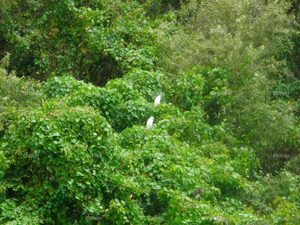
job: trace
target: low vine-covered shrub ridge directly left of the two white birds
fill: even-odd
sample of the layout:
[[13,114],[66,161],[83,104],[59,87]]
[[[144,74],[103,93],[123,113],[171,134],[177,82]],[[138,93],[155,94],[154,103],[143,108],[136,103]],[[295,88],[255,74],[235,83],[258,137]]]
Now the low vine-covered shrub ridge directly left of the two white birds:
[[[139,70],[141,73],[144,73],[142,78],[147,80],[146,83],[142,83],[142,79],[139,80],[139,76],[133,72],[125,75],[124,79],[108,82],[105,88],[76,81],[71,76],[53,77],[44,83],[43,91],[49,98],[64,97],[63,101],[70,106],[88,105],[98,108],[114,128],[122,130],[158,115],[159,109],[155,109],[153,103],[148,103],[144,96],[150,99],[156,93],[163,93],[165,87],[160,83],[163,75]],[[134,82],[130,82],[129,78]]]

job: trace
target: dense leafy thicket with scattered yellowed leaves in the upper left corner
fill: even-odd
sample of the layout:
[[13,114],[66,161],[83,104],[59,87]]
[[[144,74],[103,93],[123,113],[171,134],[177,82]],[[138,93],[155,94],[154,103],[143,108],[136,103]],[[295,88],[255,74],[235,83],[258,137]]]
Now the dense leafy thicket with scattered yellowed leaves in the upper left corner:
[[[133,68],[153,69],[157,61],[156,23],[136,1],[7,5],[0,26],[5,44],[0,49],[13,47],[10,68],[18,75],[44,80],[72,74],[103,86]],[[20,16],[19,9],[26,13]]]

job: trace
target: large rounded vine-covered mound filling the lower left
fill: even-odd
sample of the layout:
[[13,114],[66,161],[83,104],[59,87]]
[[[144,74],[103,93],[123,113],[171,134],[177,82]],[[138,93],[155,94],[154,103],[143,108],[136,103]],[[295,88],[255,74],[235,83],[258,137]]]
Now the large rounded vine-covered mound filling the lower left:
[[[17,119],[16,123],[1,138],[1,174],[6,180],[1,191],[13,188],[14,197],[34,197],[33,206],[44,207],[39,215],[43,222],[70,221],[67,212],[73,207],[98,215],[101,209],[105,212],[112,191],[119,192],[128,183],[136,187],[125,171],[114,173],[113,168],[132,165],[122,156],[111,126],[97,111],[50,101],[40,110],[18,117],[9,116],[10,120]],[[122,184],[118,190],[117,183]],[[59,221],[52,219],[53,213]]]

